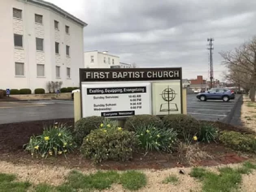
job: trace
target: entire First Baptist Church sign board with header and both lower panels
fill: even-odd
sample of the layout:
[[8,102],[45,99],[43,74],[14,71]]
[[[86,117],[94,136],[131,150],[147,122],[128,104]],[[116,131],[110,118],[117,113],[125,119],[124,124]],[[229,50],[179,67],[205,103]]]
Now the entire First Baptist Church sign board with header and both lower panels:
[[182,113],[181,68],[80,68],[81,117]]

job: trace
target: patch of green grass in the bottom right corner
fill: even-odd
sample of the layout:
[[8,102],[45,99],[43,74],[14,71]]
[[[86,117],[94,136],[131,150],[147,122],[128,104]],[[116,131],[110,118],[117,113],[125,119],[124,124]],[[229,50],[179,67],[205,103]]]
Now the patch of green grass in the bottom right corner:
[[189,175],[203,182],[202,192],[234,192],[242,182],[242,174],[249,174],[252,169],[256,169],[256,165],[245,162],[238,169],[220,168],[220,174],[194,168]]

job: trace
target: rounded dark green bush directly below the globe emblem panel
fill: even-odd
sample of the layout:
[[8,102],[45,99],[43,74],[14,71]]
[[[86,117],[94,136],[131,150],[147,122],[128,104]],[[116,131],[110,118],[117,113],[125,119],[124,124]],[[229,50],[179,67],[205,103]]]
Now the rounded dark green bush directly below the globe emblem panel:
[[194,136],[200,135],[201,124],[190,115],[165,115],[162,120],[166,128],[174,129],[178,133],[178,138],[186,143],[191,142]]

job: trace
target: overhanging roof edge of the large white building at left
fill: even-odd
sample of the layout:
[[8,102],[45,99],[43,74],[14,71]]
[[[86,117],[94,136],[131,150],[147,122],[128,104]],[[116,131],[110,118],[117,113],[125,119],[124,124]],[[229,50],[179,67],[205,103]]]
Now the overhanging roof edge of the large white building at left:
[[64,11],[63,9],[61,9],[60,7],[56,6],[53,3],[46,2],[46,1],[43,1],[43,0],[26,0],[26,1],[32,2],[32,3],[35,3],[35,4],[39,4],[39,5],[47,7],[47,8],[50,8],[53,11],[56,11],[56,12],[60,13],[62,16],[67,17],[67,18],[71,19],[72,21],[75,21],[76,23],[82,25],[83,27],[86,27],[88,25],[84,21],[78,19],[74,15],[71,15],[67,11]]

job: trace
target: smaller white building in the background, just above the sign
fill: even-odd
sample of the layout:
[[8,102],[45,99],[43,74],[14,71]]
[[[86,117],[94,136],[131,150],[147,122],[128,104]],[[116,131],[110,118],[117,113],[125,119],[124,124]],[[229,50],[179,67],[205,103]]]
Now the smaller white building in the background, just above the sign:
[[111,55],[108,51],[85,52],[85,68],[131,68],[131,66],[121,63],[119,56]]

